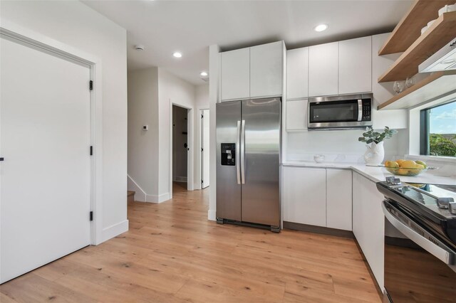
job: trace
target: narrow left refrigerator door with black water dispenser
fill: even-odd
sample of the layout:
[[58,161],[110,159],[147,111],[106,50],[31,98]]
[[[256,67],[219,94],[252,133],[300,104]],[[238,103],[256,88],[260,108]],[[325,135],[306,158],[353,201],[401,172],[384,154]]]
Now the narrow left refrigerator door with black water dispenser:
[[[239,167],[241,101],[217,103],[217,218],[242,220]],[[223,147],[223,148],[222,148]],[[234,147],[234,151],[232,148]],[[223,158],[234,161],[223,161]],[[234,165],[232,165],[234,164]],[[239,179],[239,184],[238,184]]]

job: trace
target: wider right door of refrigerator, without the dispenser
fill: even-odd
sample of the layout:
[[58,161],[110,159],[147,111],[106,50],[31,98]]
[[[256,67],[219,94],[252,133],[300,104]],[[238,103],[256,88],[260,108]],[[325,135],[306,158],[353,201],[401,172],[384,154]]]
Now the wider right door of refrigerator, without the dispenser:
[[280,98],[242,101],[242,120],[242,221],[279,227]]

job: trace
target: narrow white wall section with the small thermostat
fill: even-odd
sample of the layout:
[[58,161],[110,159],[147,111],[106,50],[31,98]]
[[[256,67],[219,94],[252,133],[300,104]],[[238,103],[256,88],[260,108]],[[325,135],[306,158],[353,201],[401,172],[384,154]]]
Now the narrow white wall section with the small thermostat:
[[[149,129],[144,131],[143,125]],[[128,189],[137,201],[158,192],[158,69],[128,72]],[[130,184],[131,181],[135,184]]]

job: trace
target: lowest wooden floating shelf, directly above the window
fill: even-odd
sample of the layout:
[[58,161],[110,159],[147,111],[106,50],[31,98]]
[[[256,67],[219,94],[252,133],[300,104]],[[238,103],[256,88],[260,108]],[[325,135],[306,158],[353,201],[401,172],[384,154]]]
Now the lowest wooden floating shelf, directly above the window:
[[377,109],[406,109],[450,92],[456,93],[456,70],[433,73],[385,103],[378,105]]

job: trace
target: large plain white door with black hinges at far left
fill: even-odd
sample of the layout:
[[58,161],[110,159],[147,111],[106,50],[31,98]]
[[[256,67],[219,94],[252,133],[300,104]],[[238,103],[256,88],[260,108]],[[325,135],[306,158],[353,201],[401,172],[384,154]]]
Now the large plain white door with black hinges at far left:
[[0,39],[1,273],[90,244],[90,68]]

